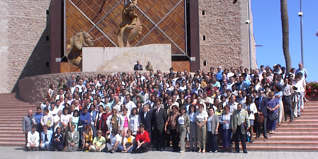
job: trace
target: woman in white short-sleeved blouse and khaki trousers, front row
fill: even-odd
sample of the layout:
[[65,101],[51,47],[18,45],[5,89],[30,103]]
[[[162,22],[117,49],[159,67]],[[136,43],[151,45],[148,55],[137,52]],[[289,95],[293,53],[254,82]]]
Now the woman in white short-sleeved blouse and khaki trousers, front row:
[[209,117],[208,112],[204,111],[203,107],[203,104],[199,104],[199,111],[196,113],[197,139],[199,141],[198,153],[205,153],[206,122]]

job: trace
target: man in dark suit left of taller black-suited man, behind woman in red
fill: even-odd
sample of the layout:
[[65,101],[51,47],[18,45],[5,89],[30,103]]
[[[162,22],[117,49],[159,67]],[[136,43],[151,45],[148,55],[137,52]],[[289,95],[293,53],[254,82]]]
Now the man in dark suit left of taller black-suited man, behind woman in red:
[[145,130],[149,133],[149,139],[151,140],[151,121],[152,121],[152,112],[149,110],[149,104],[143,105],[141,108],[143,111],[139,113],[139,121],[140,125],[143,124],[145,126]]

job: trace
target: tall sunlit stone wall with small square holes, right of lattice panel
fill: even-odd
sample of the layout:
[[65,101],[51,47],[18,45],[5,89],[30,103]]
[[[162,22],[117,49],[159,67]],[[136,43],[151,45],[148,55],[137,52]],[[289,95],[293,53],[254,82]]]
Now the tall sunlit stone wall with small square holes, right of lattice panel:
[[[242,2],[246,1],[199,1],[200,69],[249,67],[247,3]],[[255,46],[252,53],[256,65]]]

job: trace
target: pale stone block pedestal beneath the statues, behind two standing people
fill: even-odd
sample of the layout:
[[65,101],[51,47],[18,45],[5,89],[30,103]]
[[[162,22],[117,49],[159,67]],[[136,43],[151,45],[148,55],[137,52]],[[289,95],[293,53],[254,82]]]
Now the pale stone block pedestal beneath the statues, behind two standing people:
[[171,44],[149,44],[139,47],[83,47],[83,71],[133,71],[137,60],[146,70],[151,62],[156,70],[169,71]]

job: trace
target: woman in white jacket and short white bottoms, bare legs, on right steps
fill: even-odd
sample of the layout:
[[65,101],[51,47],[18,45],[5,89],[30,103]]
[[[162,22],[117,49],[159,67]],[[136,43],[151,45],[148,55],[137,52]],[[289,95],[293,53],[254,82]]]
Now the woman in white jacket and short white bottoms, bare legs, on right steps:
[[248,112],[249,114],[249,118],[250,118],[250,124],[251,124],[251,128],[249,129],[250,133],[251,133],[251,140],[250,142],[252,143],[252,136],[253,136],[253,125],[254,125],[254,120],[255,120],[255,116],[254,114],[257,113],[257,108],[255,103],[252,101],[252,96],[251,95],[247,95],[246,96],[246,102],[243,104],[245,110]]

